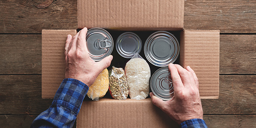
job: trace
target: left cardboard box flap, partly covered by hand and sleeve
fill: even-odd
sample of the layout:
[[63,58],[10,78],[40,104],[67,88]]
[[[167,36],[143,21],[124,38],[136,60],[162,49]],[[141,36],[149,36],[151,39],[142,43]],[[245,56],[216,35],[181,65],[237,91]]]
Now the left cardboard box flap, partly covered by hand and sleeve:
[[67,35],[76,30],[42,30],[42,98],[53,98],[65,77]]

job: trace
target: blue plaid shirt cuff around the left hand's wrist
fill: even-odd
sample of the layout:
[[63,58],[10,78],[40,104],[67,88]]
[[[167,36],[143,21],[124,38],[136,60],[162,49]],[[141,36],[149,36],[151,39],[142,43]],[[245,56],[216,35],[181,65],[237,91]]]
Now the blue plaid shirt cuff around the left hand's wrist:
[[79,113],[89,87],[76,79],[64,79],[58,88],[52,105],[61,105]]

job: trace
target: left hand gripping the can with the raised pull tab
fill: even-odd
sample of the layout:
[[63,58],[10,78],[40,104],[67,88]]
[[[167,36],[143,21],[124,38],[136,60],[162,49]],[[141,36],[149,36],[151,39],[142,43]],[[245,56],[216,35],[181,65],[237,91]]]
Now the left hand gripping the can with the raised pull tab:
[[91,86],[97,76],[110,66],[113,59],[112,55],[102,59],[102,61],[93,61],[86,45],[87,28],[79,31],[73,38],[67,35],[65,44],[65,78],[77,79],[87,86]]

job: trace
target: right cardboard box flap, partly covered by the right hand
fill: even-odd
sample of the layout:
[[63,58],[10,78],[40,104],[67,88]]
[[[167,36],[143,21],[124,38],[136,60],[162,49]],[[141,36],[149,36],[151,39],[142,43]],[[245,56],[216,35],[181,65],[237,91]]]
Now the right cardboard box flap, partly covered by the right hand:
[[219,44],[219,30],[183,30],[180,35],[180,65],[195,71],[201,99],[218,99]]

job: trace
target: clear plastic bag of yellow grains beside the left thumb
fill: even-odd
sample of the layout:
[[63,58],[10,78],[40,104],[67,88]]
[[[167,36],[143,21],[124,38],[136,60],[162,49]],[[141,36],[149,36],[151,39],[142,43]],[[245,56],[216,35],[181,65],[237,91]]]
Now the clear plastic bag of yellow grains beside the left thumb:
[[108,69],[105,69],[99,74],[94,83],[89,87],[87,96],[94,101],[99,101],[99,98],[102,98],[107,93],[108,84]]

